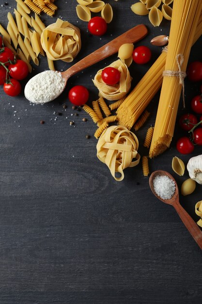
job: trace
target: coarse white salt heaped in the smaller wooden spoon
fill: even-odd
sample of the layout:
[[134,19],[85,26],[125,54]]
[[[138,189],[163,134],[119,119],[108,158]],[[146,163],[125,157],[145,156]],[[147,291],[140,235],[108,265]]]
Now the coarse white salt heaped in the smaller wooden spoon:
[[157,175],[154,178],[153,186],[155,193],[163,200],[170,200],[175,193],[175,183],[166,175]]

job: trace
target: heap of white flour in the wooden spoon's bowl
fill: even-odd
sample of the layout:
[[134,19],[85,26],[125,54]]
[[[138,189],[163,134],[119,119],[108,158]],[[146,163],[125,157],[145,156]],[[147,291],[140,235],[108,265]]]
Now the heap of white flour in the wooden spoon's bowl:
[[32,77],[25,86],[25,97],[34,103],[46,103],[57,98],[65,87],[62,74],[44,71]]

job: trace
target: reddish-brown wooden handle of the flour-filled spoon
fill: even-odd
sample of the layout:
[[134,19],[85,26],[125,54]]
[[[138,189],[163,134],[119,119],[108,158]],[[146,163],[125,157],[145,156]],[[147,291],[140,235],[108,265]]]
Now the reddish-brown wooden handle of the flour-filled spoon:
[[131,30],[125,32],[124,34],[113,39],[109,43],[105,44],[100,49],[94,51],[90,55],[81,59],[71,68],[68,68],[66,71],[62,72],[62,77],[66,80],[76,74],[77,72],[88,68],[93,64],[103,60],[104,58],[109,57],[110,55],[115,54],[119,51],[119,48],[124,43],[134,43],[144,38],[147,35],[148,31],[144,24],[140,24],[132,28]]

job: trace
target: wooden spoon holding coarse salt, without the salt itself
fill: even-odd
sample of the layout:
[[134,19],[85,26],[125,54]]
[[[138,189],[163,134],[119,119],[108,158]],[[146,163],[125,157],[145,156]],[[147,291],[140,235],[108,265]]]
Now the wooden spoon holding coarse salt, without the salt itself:
[[[173,197],[170,200],[163,200],[161,197],[159,197],[155,193],[153,181],[154,181],[154,178],[157,175],[160,175],[160,176],[161,175],[166,175],[166,176],[170,177],[170,179],[173,180],[173,182],[175,183],[175,193],[174,193]],[[170,204],[170,205],[172,205],[175,208],[175,210],[177,211],[180,219],[183,221],[183,223],[185,224],[185,226],[188,229],[188,231],[190,232],[190,234],[193,236],[193,238],[195,239],[195,241],[197,242],[197,244],[199,245],[199,247],[202,249],[202,231],[199,228],[199,226],[197,225],[197,223],[190,217],[190,215],[180,205],[180,203],[179,203],[179,190],[178,190],[178,186],[177,186],[176,181],[172,177],[172,175],[170,173],[168,173],[167,171],[163,171],[163,170],[155,171],[150,176],[149,186],[150,186],[152,192],[154,193],[154,195],[160,201],[162,201],[163,203]]]

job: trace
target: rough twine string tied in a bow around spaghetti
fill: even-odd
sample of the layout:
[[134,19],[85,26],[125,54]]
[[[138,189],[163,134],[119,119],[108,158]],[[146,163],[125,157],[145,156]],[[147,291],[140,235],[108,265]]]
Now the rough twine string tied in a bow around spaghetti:
[[171,70],[163,71],[163,77],[164,76],[168,76],[168,77],[175,76],[175,77],[179,78],[179,84],[182,84],[183,107],[185,108],[185,84],[184,84],[184,79],[186,77],[186,72],[182,71],[183,61],[184,61],[184,56],[182,54],[178,54],[176,56],[178,71],[171,71]]

